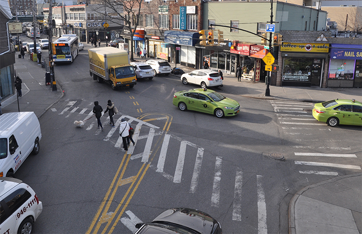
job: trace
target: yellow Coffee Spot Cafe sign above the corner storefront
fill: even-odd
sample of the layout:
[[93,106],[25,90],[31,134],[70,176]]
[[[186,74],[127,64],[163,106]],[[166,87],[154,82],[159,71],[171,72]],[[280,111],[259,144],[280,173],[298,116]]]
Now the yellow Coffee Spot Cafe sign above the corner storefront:
[[290,52],[311,52],[328,53],[329,44],[322,43],[284,43],[280,46],[280,51]]

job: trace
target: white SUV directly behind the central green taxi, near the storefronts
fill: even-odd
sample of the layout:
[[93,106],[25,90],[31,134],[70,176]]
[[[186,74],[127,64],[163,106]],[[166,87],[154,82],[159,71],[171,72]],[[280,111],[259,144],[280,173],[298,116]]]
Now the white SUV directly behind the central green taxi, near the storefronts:
[[223,84],[219,73],[208,69],[194,70],[190,73],[182,74],[181,81],[184,85],[188,83],[196,84],[200,85],[203,89],[211,86],[221,86]]

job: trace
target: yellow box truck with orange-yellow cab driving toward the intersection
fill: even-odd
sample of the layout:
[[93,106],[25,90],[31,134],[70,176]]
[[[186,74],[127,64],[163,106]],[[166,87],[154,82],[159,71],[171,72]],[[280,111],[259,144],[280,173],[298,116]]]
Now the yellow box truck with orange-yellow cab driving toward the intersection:
[[133,88],[136,74],[130,65],[128,52],[114,47],[88,49],[90,74],[98,83],[103,81],[116,90],[120,86]]

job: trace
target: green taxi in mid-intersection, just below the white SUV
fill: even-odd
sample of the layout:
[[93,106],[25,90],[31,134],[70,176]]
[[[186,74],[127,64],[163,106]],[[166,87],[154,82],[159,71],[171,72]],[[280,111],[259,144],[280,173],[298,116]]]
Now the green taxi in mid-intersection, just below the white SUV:
[[199,111],[216,117],[235,116],[240,104],[212,90],[194,89],[174,94],[172,103],[181,111]]

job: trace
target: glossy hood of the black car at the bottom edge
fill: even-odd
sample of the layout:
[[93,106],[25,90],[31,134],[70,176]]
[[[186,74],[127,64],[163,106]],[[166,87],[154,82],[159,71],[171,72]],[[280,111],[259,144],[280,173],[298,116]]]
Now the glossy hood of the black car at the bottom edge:
[[196,230],[201,234],[211,234],[218,222],[207,213],[187,208],[169,209],[158,215],[152,222],[169,222]]

